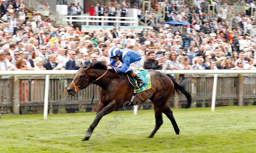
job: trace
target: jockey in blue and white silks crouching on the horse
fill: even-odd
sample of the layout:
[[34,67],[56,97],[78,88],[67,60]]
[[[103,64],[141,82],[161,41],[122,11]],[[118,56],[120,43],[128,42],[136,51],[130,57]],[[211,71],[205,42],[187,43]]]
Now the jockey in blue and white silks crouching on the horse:
[[[117,61],[122,62],[118,65],[119,69],[117,72],[126,73],[136,79],[138,82],[137,88],[140,88],[145,84],[145,82],[133,72],[134,70],[141,68],[144,64],[144,59],[140,53],[128,48],[119,49],[117,46],[113,46],[108,50],[108,57],[111,58],[109,65],[115,66]],[[112,67],[108,66],[108,69],[112,69]]]

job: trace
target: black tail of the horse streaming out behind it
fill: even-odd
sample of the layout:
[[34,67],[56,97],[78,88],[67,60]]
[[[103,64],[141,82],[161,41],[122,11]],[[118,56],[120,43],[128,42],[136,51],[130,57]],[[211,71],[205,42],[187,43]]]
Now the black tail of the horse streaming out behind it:
[[[170,77],[171,78],[171,77]],[[172,79],[172,78],[171,78]],[[175,94],[175,92],[178,94],[178,95],[181,95],[181,93],[179,91],[181,91],[187,98],[187,105],[186,105],[186,109],[187,108],[190,108],[191,106],[191,101],[192,101],[192,97],[190,95],[190,92],[187,91],[187,85],[188,85],[188,82],[189,79],[185,79],[185,80],[182,80],[180,78],[179,82],[176,82],[175,80],[172,79],[172,82],[174,84],[174,91],[173,91],[173,95]]]

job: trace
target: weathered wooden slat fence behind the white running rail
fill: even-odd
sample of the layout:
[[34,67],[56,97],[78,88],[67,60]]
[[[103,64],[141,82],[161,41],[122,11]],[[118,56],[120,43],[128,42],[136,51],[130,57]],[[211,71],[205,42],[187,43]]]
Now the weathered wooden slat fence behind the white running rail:
[[[211,107],[214,74],[185,74],[176,78],[189,78],[188,90],[192,95],[192,107]],[[48,113],[95,112],[99,102],[97,86],[91,104],[95,85],[75,94],[68,95],[66,89],[73,75],[50,75]],[[176,80],[178,81],[178,80]],[[0,78],[1,113],[12,113],[12,107],[19,107],[24,114],[43,114],[45,75],[16,75]],[[215,106],[256,105],[256,74],[219,74]],[[14,99],[16,102],[14,102]],[[239,99],[242,103],[239,104]],[[19,106],[14,103],[19,103]],[[175,95],[168,102],[170,108],[184,108],[187,99]],[[139,105],[139,109],[150,109],[150,100]],[[123,110],[120,108],[119,110]]]

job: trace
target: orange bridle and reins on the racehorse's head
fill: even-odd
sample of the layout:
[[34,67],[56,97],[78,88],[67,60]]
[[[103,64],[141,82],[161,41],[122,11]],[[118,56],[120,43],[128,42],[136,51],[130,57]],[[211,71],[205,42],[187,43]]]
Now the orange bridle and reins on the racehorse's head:
[[[111,66],[111,67],[116,71],[116,75],[117,75],[119,78],[121,78],[120,75],[117,73],[117,71],[118,71],[118,69],[119,69],[118,66],[112,66],[112,65],[107,65],[107,66]],[[115,67],[117,67],[117,70],[115,69]],[[86,80],[87,75],[89,74],[89,72],[88,72],[87,70],[85,70],[84,68],[79,68],[79,71],[77,72],[76,76],[79,74],[79,72],[80,72],[81,70],[84,70],[85,72],[87,72],[87,74],[86,74],[86,76],[85,76],[85,78],[84,78],[84,80]],[[109,70],[109,69],[108,69],[108,70]],[[75,92],[80,91],[80,90],[82,90],[82,89],[85,89],[85,88],[87,88],[88,86],[92,85],[95,81],[97,81],[97,80],[99,80],[101,77],[103,77],[103,76],[108,72],[108,70],[107,70],[103,75],[101,75],[99,78],[97,78],[96,80],[92,81],[92,82],[91,82],[89,85],[87,85],[86,87],[82,87],[82,85],[84,84],[84,80],[83,80],[83,82],[81,83],[81,85],[79,85],[79,86],[76,87],[76,85],[74,84],[74,80],[75,80],[75,78],[76,78],[76,76],[75,76],[74,79],[73,79],[73,81],[71,82],[71,83],[74,85],[74,87],[75,87]],[[89,75],[91,75],[91,74],[89,74]],[[91,76],[93,76],[93,78],[94,78],[94,75],[91,75]]]

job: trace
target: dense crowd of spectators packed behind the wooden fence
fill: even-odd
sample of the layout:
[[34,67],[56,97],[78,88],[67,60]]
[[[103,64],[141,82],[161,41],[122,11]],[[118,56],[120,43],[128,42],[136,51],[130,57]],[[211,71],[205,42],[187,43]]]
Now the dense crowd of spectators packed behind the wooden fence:
[[[166,4],[172,5],[172,2]],[[140,5],[134,5],[137,6]],[[101,14],[101,8],[98,10]],[[209,15],[202,16],[201,20],[196,10],[190,12],[186,11],[191,15],[186,21],[194,23],[192,27],[197,29],[188,26],[182,30],[178,26],[174,31],[170,25],[158,24],[155,28],[143,27],[139,33],[133,28],[122,30],[122,26],[114,26],[110,31],[99,28],[89,33],[81,32],[73,24],[54,28],[49,18],[42,21],[37,12],[33,13],[31,22],[28,18],[14,22],[7,17],[7,21],[0,24],[0,70],[76,70],[80,62],[87,65],[96,60],[108,64],[108,49],[115,45],[139,52],[145,61],[144,69],[256,69],[256,35],[251,38],[239,26],[230,29],[226,22],[219,22],[219,18],[214,22]],[[182,20],[186,17],[181,16]],[[252,21],[249,15],[243,16],[240,22]],[[214,32],[207,37],[207,33],[197,35],[202,29],[209,30],[208,23],[215,24]],[[184,50],[187,45],[194,47]]]

